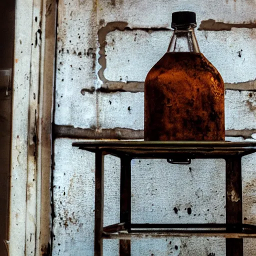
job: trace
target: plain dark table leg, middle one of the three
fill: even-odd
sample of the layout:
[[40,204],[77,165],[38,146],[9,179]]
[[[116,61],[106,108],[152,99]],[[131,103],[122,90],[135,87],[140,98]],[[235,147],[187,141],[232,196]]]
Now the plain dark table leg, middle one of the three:
[[[121,157],[121,180],[120,180],[120,222],[130,224],[130,200],[131,200],[131,158]],[[119,241],[119,256],[130,256],[130,240]]]

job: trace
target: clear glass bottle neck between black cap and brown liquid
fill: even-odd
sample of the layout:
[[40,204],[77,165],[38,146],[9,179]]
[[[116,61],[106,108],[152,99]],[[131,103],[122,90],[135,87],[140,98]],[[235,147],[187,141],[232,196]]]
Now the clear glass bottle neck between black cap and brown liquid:
[[200,52],[194,28],[175,28],[167,52]]

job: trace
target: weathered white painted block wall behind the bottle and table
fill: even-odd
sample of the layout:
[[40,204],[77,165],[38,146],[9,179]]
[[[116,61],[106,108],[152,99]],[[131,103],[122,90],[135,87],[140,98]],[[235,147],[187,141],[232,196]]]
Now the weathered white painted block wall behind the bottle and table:
[[[77,138],[143,137],[143,81],[166,51],[171,12],[197,14],[200,50],[225,82],[226,139],[255,141],[255,8],[254,0],[58,2],[54,256],[93,255],[94,156],[71,143]],[[110,224],[118,221],[119,160],[105,158],[104,224]],[[132,221],[225,222],[224,162],[194,160],[190,167],[133,161]],[[245,223],[256,221],[255,167],[255,155],[243,158]],[[254,240],[244,240],[245,255],[253,255],[254,245]],[[133,256],[225,255],[225,241],[132,240],[131,251]],[[118,255],[118,243],[105,241],[104,252]]]

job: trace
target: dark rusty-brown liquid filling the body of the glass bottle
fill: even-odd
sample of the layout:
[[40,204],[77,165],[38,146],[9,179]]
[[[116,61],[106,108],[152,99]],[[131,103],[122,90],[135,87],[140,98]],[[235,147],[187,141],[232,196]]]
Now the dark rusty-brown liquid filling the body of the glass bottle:
[[145,140],[224,140],[224,83],[202,53],[165,53],[144,91]]

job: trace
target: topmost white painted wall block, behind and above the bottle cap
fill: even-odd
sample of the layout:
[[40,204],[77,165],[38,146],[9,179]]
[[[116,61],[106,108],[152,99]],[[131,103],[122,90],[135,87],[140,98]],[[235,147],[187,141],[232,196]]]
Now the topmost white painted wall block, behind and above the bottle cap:
[[197,24],[209,18],[226,23],[255,20],[254,0],[98,0],[97,6],[98,20],[126,21],[131,27],[170,27],[171,12],[179,10],[195,11]]

